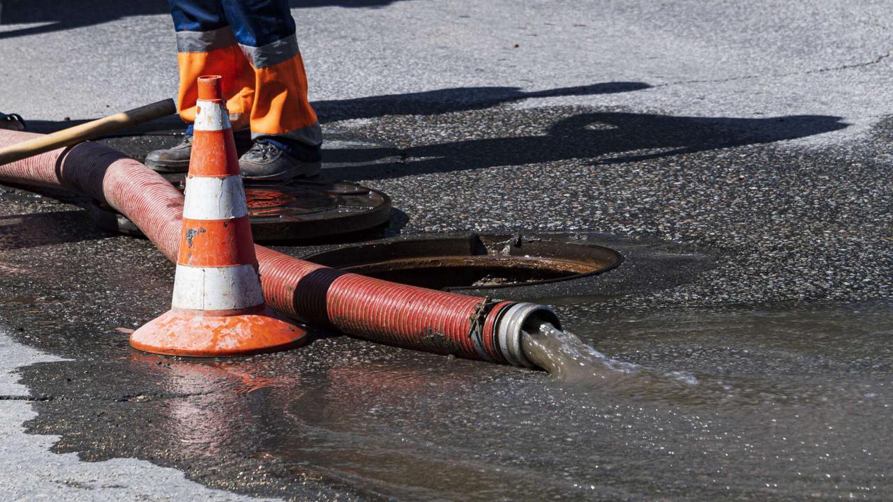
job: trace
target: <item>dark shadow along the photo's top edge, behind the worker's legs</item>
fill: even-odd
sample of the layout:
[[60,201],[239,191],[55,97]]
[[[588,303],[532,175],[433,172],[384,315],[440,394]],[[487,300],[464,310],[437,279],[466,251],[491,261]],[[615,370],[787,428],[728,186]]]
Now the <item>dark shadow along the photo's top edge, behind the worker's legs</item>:
[[[313,7],[379,8],[400,0],[289,0],[293,9]],[[121,2],[119,0],[79,0],[60,2],[59,0],[5,0],[0,12],[2,24],[50,23],[29,28],[11,29],[0,32],[0,39],[51,33],[65,29],[83,28],[105,22],[117,21],[125,17],[171,13],[166,0],[142,0]],[[300,20],[298,20],[300,21]],[[172,30],[172,25],[171,25]]]

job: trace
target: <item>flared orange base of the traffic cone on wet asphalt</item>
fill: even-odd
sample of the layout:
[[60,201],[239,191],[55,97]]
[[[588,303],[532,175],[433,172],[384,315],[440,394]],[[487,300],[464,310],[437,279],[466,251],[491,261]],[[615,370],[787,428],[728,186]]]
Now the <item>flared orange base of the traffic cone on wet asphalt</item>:
[[202,315],[169,310],[130,335],[130,346],[164,356],[250,356],[299,347],[307,331],[269,309],[254,314]]

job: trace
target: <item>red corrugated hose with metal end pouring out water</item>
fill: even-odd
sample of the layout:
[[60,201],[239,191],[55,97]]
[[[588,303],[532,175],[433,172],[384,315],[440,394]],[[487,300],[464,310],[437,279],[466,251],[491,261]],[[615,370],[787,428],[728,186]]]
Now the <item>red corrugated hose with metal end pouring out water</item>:
[[[35,134],[0,130],[0,147]],[[0,181],[70,189],[127,216],[169,260],[179,249],[183,196],[142,163],[81,143],[0,165]],[[520,349],[528,322],[559,326],[542,305],[491,302],[396,284],[312,264],[255,246],[268,305],[310,326],[437,354],[532,366]]]

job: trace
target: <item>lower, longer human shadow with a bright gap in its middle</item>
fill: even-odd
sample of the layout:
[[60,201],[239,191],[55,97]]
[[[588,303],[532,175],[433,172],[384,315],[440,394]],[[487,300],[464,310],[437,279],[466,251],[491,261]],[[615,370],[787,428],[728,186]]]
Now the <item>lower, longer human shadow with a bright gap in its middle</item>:
[[[767,118],[684,117],[652,113],[591,112],[573,113],[579,108],[538,108],[501,110],[508,115],[499,120],[492,110],[463,117],[472,123],[501,122],[489,138],[409,146],[352,150],[352,162],[359,166],[340,166],[325,171],[332,179],[379,180],[410,174],[454,172],[505,165],[551,163],[582,160],[609,164],[645,161],[671,155],[690,154],[718,148],[766,144],[804,138],[847,127],[840,117],[828,115],[790,115]],[[513,134],[530,124],[541,124],[545,134]],[[507,124],[507,125],[506,125]],[[432,124],[426,124],[431,127]],[[455,122],[439,125],[456,127]],[[505,129],[507,127],[507,129]],[[496,128],[491,128],[496,129]],[[460,131],[461,132],[461,131]],[[327,152],[328,153],[328,152]],[[338,151],[327,161],[338,160]],[[388,163],[374,159],[394,157]],[[413,160],[419,159],[419,160]],[[344,161],[342,161],[344,162]]]

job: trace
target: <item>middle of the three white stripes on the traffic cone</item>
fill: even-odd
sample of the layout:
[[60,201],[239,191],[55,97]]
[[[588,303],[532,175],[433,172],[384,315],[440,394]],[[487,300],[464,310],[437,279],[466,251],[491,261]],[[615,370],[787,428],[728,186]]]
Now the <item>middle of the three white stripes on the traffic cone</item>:
[[245,188],[239,176],[193,177],[186,180],[183,217],[190,220],[231,220],[248,213]]

